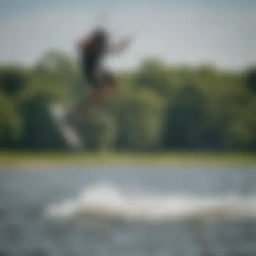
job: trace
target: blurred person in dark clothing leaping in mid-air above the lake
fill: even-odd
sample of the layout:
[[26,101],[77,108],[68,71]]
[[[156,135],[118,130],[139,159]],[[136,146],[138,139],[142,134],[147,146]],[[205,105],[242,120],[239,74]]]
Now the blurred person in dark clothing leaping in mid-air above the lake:
[[115,77],[102,67],[104,57],[108,54],[121,53],[130,42],[130,38],[123,38],[115,45],[110,44],[108,32],[102,28],[96,28],[79,42],[78,51],[82,75],[92,87],[92,93],[89,98],[79,102],[67,115],[62,131],[69,143],[76,146],[81,144],[72,129],[73,125],[90,106],[100,104],[117,87]]

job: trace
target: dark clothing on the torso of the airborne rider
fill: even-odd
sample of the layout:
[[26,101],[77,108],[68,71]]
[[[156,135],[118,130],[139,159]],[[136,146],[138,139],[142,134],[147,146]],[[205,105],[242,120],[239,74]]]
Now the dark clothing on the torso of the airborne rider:
[[92,87],[113,82],[112,75],[101,67],[108,42],[106,42],[105,34],[100,34],[100,36],[98,42],[96,41],[87,49],[82,50],[82,73]]

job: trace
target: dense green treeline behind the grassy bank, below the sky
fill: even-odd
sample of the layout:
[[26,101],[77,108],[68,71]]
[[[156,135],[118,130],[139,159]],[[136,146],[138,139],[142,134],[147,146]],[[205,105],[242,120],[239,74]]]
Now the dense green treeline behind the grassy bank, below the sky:
[[[256,150],[256,69],[175,67],[146,59],[77,129],[87,150]],[[0,148],[65,150],[49,115],[90,93],[77,64],[51,51],[32,67],[0,67]]]

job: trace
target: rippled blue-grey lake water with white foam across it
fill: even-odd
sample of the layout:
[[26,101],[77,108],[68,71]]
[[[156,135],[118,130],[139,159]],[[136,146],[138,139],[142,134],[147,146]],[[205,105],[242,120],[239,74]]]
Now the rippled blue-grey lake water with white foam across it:
[[255,167],[1,170],[0,255],[256,255]]

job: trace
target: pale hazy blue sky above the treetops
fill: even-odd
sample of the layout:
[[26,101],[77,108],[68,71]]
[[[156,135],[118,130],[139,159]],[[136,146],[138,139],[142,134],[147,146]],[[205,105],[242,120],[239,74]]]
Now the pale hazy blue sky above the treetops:
[[0,62],[32,63],[49,49],[75,55],[102,12],[114,37],[135,36],[113,67],[157,56],[240,69],[256,59],[256,0],[0,0]]

